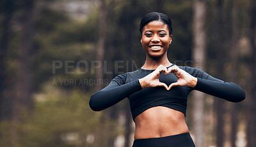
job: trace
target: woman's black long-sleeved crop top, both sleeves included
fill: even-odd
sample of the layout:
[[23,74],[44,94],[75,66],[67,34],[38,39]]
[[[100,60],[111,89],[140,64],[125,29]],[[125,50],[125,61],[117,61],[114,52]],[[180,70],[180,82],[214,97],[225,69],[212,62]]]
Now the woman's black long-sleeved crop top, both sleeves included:
[[[93,111],[101,111],[128,97],[134,120],[141,112],[156,106],[169,107],[183,112],[186,116],[188,95],[193,89],[230,102],[241,102],[245,98],[243,89],[233,82],[221,81],[197,68],[178,67],[197,77],[198,82],[195,88],[175,86],[168,91],[164,87],[158,86],[142,89],[138,79],[154,70],[139,68],[134,72],[117,75],[106,88],[93,93],[89,102],[90,107]],[[177,77],[172,73],[168,75],[161,73],[159,81],[169,86],[172,82],[177,81]]]

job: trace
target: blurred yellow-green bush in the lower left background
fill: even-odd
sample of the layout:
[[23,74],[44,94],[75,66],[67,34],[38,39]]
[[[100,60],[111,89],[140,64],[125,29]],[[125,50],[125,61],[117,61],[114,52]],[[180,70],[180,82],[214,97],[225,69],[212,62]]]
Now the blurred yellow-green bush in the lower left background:
[[8,121],[1,123],[0,145],[10,144],[10,130],[15,127],[20,134],[20,147],[90,146],[90,143],[104,146],[108,142],[106,135],[117,133],[109,130],[115,123],[104,120],[105,123],[99,124],[102,112],[90,109],[89,98],[90,93],[78,89],[68,92],[51,83],[44,84],[42,92],[35,95],[34,111],[24,111],[24,121],[19,126]]

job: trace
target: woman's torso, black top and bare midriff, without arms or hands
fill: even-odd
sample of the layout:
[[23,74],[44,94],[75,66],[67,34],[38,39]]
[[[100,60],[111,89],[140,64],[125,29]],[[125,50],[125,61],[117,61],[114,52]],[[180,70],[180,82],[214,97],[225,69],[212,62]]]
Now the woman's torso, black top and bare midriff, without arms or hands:
[[[185,66],[179,66],[186,70]],[[192,74],[196,71],[189,68]],[[118,75],[114,81],[119,85],[135,81],[154,70],[138,69],[134,72]],[[177,81],[173,74],[159,77],[159,81],[170,85]],[[134,139],[164,137],[188,132],[185,121],[187,98],[192,88],[175,86],[170,91],[163,87],[145,88],[129,95],[132,118],[136,125]]]

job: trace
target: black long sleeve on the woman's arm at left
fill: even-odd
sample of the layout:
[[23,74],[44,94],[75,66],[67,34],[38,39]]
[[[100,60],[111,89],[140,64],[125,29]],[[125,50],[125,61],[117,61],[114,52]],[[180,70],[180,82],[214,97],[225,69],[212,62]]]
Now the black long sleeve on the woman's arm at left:
[[140,89],[142,88],[138,79],[125,84],[125,74],[118,75],[106,88],[93,93],[89,105],[93,111],[102,111]]

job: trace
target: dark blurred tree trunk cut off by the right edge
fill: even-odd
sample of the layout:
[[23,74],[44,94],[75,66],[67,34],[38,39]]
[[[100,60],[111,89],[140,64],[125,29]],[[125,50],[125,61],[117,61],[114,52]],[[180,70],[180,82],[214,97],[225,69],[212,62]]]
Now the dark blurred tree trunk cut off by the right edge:
[[251,24],[250,28],[248,29],[248,34],[250,38],[250,44],[252,46],[252,53],[250,54],[250,70],[251,70],[251,75],[248,78],[248,84],[250,84],[250,89],[249,89],[249,97],[246,98],[247,100],[247,105],[248,105],[248,112],[246,113],[248,116],[247,120],[247,140],[248,140],[248,147],[256,146],[256,2],[255,1],[250,1],[252,8],[250,9],[250,18],[251,18]]

